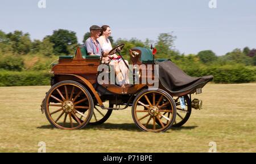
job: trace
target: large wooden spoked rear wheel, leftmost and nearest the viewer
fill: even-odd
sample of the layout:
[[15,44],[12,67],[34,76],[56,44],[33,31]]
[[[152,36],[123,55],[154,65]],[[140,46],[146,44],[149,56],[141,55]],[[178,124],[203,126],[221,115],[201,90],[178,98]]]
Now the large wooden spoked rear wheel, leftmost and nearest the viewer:
[[52,126],[77,130],[89,123],[93,100],[88,90],[76,81],[61,81],[46,94],[44,110]]

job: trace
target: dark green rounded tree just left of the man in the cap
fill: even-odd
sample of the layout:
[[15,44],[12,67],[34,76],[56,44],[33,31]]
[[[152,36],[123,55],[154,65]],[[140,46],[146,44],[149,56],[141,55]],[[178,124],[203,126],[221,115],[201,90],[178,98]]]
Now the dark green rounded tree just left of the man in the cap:
[[49,36],[49,41],[54,44],[55,54],[73,54],[77,45],[76,33],[65,29],[53,31],[53,34]]

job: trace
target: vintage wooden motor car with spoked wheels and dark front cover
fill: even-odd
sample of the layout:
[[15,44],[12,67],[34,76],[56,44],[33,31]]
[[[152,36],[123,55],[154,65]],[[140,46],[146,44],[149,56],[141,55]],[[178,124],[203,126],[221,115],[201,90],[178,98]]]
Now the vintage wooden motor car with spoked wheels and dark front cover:
[[[116,46],[109,54],[118,54],[123,60],[123,46]],[[213,76],[188,76],[170,59],[155,59],[156,51],[152,46],[151,49],[133,48],[130,52],[133,67],[129,67],[129,74],[133,80],[126,88],[115,83],[99,83],[101,57],[87,55],[84,45],[77,47],[74,56],[60,56],[49,68],[53,75],[51,88],[41,105],[49,123],[64,130],[78,130],[88,124],[104,123],[113,110],[131,107],[131,115],[139,129],[164,132],[183,126],[192,108],[201,109],[202,101],[192,100],[192,94],[201,93],[201,88]],[[111,72],[110,69],[105,74]],[[155,78],[153,84],[141,83],[148,77]]]

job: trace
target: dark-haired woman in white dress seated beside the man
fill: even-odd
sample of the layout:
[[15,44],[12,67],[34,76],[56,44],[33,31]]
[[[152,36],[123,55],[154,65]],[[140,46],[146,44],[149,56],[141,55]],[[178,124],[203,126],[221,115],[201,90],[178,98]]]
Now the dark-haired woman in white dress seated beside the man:
[[[100,42],[102,50],[104,50],[105,53],[109,53],[110,50],[112,50],[112,44],[109,41],[108,37],[111,34],[111,29],[108,25],[103,25],[101,27],[101,34],[98,38],[98,41]],[[115,68],[115,75],[117,76],[117,84],[121,86],[122,88],[125,88],[125,84],[129,84],[129,70],[126,67],[125,63],[123,62],[122,58],[119,58],[118,55],[113,54],[108,56],[111,61],[110,65],[113,65]],[[125,62],[129,64],[126,60]]]

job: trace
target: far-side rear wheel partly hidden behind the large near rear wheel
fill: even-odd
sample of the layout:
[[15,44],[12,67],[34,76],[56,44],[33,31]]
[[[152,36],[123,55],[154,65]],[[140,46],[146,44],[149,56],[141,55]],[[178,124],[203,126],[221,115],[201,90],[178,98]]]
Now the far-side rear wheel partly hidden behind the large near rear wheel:
[[[113,107],[113,104],[109,104],[109,107]],[[104,109],[101,109],[100,106],[95,105],[93,109],[93,116],[92,116],[92,119],[90,119],[89,124],[90,125],[102,124],[106,120],[108,120],[111,114],[112,114],[112,109],[104,110]]]

